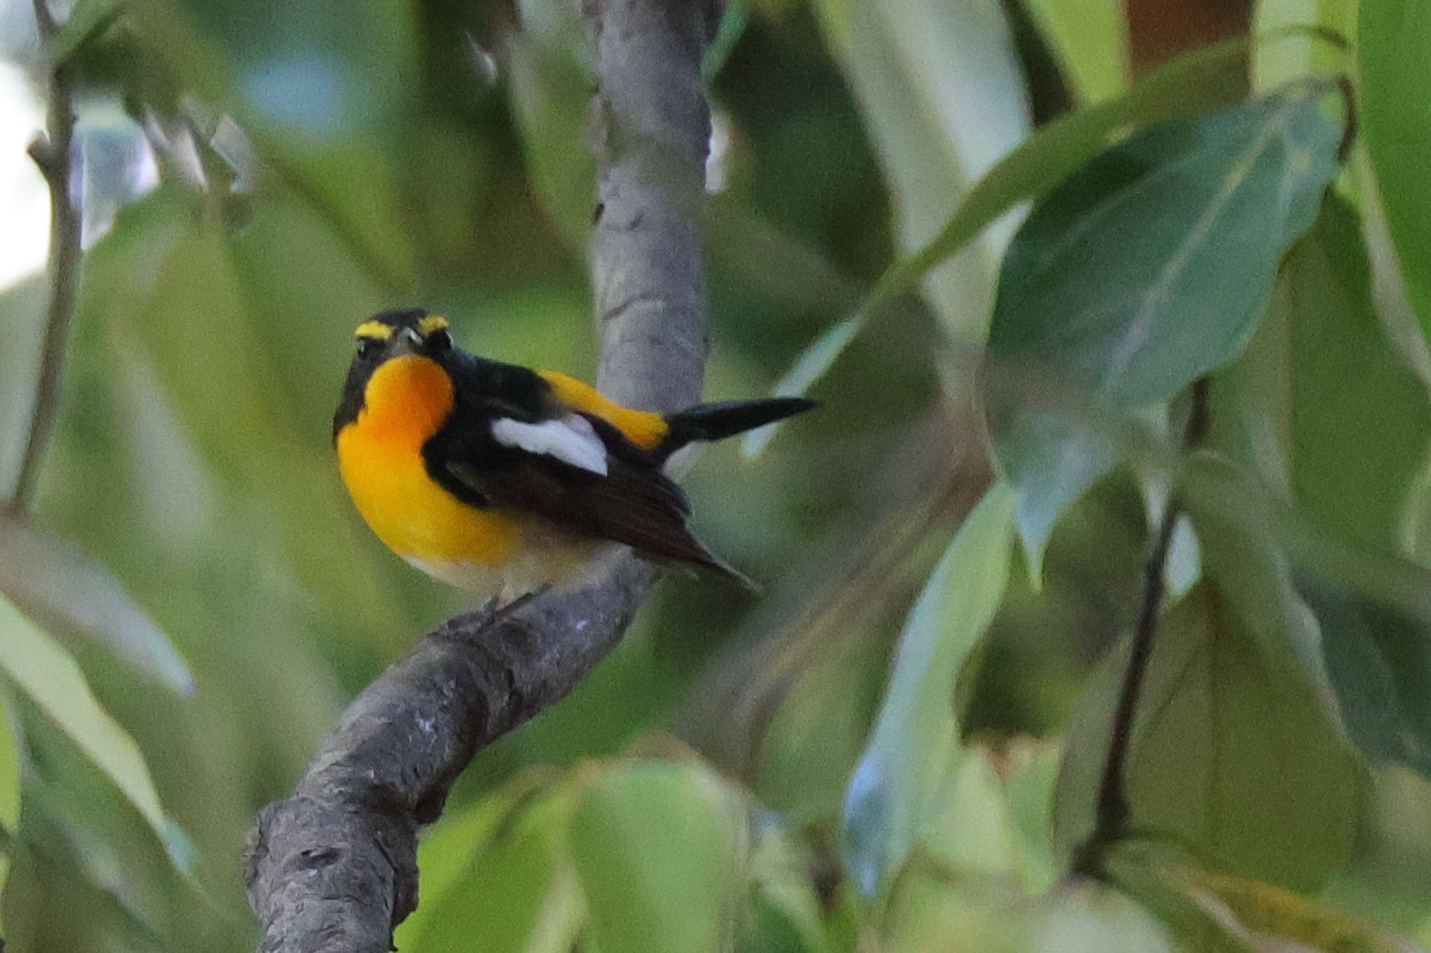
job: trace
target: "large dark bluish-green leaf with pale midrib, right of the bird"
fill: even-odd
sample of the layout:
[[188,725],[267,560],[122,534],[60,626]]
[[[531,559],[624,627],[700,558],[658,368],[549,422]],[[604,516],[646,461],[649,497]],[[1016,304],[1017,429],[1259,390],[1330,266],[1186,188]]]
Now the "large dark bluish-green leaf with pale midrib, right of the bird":
[[[1322,111],[1325,93],[1314,86],[1155,126],[1070,176],[1009,247],[989,336],[995,366],[1015,381],[1046,374],[1103,406],[1138,407],[1232,360],[1337,170],[1341,130]],[[1075,424],[1042,419],[1045,407],[1020,420],[1026,387],[1003,389],[1013,393],[990,400],[1003,420],[995,451],[1019,492],[1036,574],[1058,514],[1115,456]]]

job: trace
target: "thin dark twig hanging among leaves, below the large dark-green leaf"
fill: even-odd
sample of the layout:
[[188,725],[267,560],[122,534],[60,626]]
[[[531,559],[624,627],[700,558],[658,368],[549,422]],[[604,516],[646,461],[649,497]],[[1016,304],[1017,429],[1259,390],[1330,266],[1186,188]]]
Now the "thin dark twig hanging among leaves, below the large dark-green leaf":
[[[1182,447],[1191,450],[1202,441],[1208,431],[1208,379],[1199,377],[1192,384],[1192,406],[1183,429]],[[1113,727],[1108,743],[1108,757],[1103,762],[1103,776],[1098,784],[1098,806],[1095,809],[1093,833],[1079,847],[1073,859],[1073,872],[1083,876],[1099,876],[1103,854],[1109,844],[1119,840],[1128,830],[1130,809],[1128,806],[1128,752],[1133,740],[1133,719],[1138,714],[1138,697],[1142,694],[1152,659],[1153,637],[1158,633],[1158,613],[1162,607],[1163,580],[1168,567],[1168,550],[1172,546],[1173,527],[1182,507],[1176,494],[1163,507],[1153,537],[1148,562],[1143,564],[1143,594],[1138,609],[1138,627],[1133,630],[1133,644],[1123,670],[1123,686],[1118,694],[1118,709],[1113,713]]]

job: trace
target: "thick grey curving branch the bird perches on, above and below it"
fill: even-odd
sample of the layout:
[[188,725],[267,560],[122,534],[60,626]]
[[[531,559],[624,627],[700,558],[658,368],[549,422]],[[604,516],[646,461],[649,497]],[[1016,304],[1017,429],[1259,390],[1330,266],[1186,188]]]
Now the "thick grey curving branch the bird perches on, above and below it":
[[[705,353],[697,230],[714,0],[587,0],[600,160],[591,276],[598,386],[651,410],[697,400]],[[418,827],[472,756],[564,697],[621,639],[655,579],[624,557],[584,592],[449,620],[375,680],[249,836],[262,953],[385,953],[418,903]]]

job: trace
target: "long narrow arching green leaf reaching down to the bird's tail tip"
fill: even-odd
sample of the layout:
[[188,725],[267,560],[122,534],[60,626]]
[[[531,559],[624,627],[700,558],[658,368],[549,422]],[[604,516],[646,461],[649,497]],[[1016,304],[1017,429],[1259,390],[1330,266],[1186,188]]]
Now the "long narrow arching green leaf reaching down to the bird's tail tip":
[[[1226,77],[1236,74],[1246,51],[1248,41],[1239,39],[1185,53],[1145,76],[1123,96],[1085,106],[1035,130],[969,189],[939,234],[892,264],[859,310],[826,330],[796,360],[776,393],[806,393],[834,364],[866,320],[887,310],[933,267],[1016,204],[1053,189],[1129,124],[1195,116],[1239,101],[1245,84],[1228,83]],[[746,451],[758,453],[778,427],[771,424],[761,437],[748,437]]]

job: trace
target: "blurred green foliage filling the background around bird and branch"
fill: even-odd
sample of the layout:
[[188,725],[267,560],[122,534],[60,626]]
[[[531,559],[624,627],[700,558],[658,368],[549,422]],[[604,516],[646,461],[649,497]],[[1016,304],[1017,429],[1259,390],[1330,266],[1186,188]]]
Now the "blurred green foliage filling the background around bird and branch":
[[[673,574],[482,752],[399,949],[1431,943],[1411,6],[1261,0],[1259,36],[1132,76],[1115,0],[733,0],[707,393],[784,374],[824,409],[687,483],[768,594]],[[592,370],[582,26],[77,0],[41,50],[27,16],[0,4],[4,53],[36,89],[74,70],[80,199],[119,211],[37,503],[0,519],[0,920],[20,952],[245,950],[255,813],[464,604],[338,483],[352,327],[422,303],[472,350]],[[1349,151],[1328,74],[1357,77]],[[0,289],[7,476],[44,307]],[[1171,499],[1139,836],[1070,880]]]

